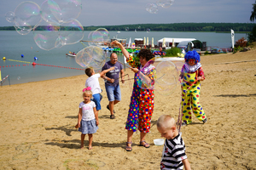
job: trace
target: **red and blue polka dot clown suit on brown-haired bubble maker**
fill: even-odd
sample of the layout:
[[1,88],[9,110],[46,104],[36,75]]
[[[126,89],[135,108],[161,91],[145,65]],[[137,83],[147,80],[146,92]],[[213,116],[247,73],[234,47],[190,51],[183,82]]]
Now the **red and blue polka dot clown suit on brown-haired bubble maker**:
[[[137,63],[132,56],[127,59],[127,62],[132,67],[140,68],[140,63]],[[147,76],[154,83],[155,68],[153,65],[148,66]],[[131,103],[125,129],[136,132],[137,129],[140,132],[148,133],[150,129],[150,122],[152,113],[154,111],[154,89],[143,89],[137,84],[138,79],[137,72],[134,76],[134,85],[131,94]]]

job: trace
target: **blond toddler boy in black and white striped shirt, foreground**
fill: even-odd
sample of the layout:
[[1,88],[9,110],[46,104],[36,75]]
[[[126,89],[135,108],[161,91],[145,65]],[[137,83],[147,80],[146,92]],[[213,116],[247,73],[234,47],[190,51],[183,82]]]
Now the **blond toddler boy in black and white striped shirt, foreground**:
[[166,138],[160,169],[190,169],[188,157],[185,153],[185,144],[181,133],[177,132],[175,120],[172,116],[162,115],[157,120],[157,129],[161,137]]

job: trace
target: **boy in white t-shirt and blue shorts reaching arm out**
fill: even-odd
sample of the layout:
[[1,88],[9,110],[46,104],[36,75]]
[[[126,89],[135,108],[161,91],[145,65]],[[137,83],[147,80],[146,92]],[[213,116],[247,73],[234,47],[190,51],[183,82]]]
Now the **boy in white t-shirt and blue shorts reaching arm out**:
[[[102,88],[100,87],[100,82],[99,82],[99,77],[102,77],[105,75],[108,71],[113,71],[114,66],[109,68],[108,70],[102,71],[100,73],[95,73],[95,71],[92,68],[86,68],[85,69],[85,74],[88,76],[86,82],[85,82],[85,87],[90,87],[91,92],[92,92],[92,101],[96,104],[96,114],[98,115],[99,111],[102,109],[101,106],[101,100],[102,100]],[[79,125],[76,125],[76,128],[78,128]]]

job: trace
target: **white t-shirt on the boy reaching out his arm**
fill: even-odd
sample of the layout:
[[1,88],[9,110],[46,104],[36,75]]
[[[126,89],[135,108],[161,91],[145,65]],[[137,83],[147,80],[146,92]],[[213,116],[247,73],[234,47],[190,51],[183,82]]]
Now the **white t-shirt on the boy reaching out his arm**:
[[100,87],[99,77],[101,75],[99,73],[92,75],[91,77],[88,77],[85,82],[85,87],[90,87],[92,95],[93,94],[101,94],[102,89]]

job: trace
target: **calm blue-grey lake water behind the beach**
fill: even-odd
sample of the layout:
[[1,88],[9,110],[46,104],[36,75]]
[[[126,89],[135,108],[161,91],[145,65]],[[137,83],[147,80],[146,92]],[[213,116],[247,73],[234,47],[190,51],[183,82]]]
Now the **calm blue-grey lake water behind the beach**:
[[[84,31],[84,40],[87,40],[89,33],[90,31]],[[231,46],[230,33],[171,31],[150,31],[147,33],[146,31],[121,31],[119,34],[117,34],[116,31],[109,31],[109,35],[110,38],[127,38],[127,42],[129,42],[130,37],[131,42],[134,42],[134,38],[148,37],[148,40],[151,41],[152,37],[154,37],[154,44],[157,44],[157,41],[163,37],[183,37],[195,38],[201,42],[207,42],[207,46],[218,46],[219,48],[230,48]],[[246,37],[246,34],[236,33],[235,40],[237,41],[241,37]],[[84,44],[87,45],[86,42],[84,42]],[[84,71],[81,70],[44,66],[56,65],[83,69],[76,63],[74,57],[69,57],[66,55],[69,51],[77,53],[82,48],[84,48],[83,45],[78,42],[73,45],[67,45],[63,46],[62,48],[54,48],[46,51],[38,48],[37,44],[33,40],[32,32],[28,35],[22,36],[16,31],[0,31],[0,66],[2,67],[2,78],[9,75],[10,83],[18,84],[83,75]],[[24,55],[23,58],[21,58],[21,54]],[[18,61],[3,60],[3,57]],[[32,66],[19,62],[33,62],[34,57],[38,58],[38,64],[44,65]],[[119,54],[119,61],[124,61],[122,54]],[[26,66],[24,66],[25,64]],[[11,65],[11,67],[6,67],[6,65]],[[9,85],[9,80],[6,80],[3,85]]]

